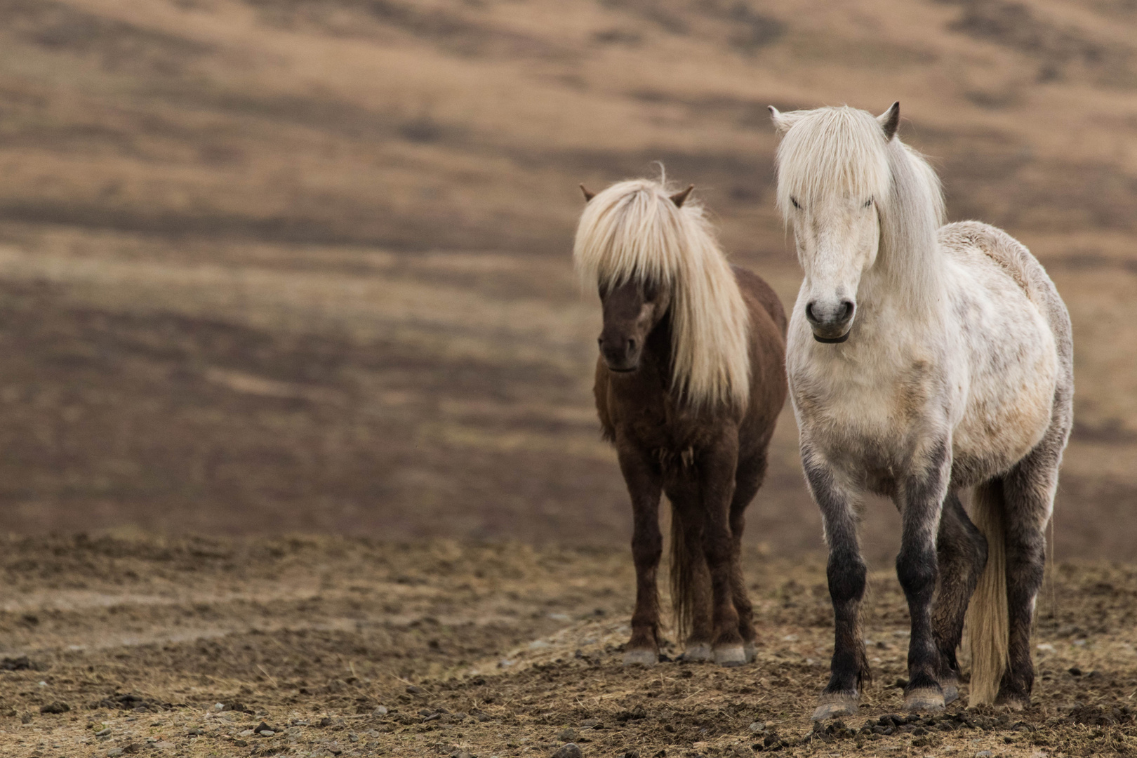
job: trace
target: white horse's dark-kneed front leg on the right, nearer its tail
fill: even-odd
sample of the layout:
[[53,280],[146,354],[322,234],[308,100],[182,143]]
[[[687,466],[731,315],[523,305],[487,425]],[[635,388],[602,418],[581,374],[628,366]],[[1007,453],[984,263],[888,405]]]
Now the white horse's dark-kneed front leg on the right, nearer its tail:
[[937,680],[939,649],[932,633],[931,603],[938,570],[936,534],[951,473],[951,443],[946,438],[933,439],[921,445],[908,470],[897,482],[903,532],[896,575],[912,617],[908,684],[904,688],[904,707],[910,711],[944,709],[944,691]]

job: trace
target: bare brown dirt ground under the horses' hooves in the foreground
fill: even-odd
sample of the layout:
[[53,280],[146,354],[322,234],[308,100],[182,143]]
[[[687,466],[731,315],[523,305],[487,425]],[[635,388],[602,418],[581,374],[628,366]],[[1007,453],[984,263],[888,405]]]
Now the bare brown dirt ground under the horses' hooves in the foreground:
[[914,723],[891,718],[907,624],[875,572],[874,683],[858,716],[813,731],[831,644],[818,556],[746,555],[755,664],[649,670],[620,665],[625,550],[103,536],[9,539],[2,564],[7,756],[1137,751],[1137,569],[1117,565],[1049,572],[1031,709]]

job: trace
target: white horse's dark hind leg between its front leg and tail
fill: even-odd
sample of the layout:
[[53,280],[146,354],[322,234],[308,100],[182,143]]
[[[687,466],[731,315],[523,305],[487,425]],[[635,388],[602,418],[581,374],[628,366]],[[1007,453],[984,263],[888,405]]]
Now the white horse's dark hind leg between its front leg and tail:
[[955,492],[948,492],[936,540],[939,575],[932,609],[932,634],[939,648],[939,685],[944,702],[960,697],[960,665],[955,650],[963,638],[968,601],[987,564],[987,539],[968,518]]

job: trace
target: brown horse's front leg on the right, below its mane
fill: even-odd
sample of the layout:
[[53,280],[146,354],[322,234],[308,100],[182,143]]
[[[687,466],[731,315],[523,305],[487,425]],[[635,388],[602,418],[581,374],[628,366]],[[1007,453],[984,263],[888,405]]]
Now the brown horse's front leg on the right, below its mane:
[[706,515],[703,551],[711,572],[714,624],[714,660],[722,666],[746,663],[735,606],[733,574],[737,552],[730,530],[730,506],[738,468],[738,432],[723,430],[714,445],[698,456],[699,490]]

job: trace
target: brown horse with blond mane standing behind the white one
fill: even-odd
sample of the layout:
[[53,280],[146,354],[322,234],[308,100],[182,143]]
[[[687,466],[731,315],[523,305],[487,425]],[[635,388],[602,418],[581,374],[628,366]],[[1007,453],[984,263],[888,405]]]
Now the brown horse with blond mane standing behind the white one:
[[624,664],[658,658],[661,493],[672,507],[683,658],[754,659],[739,551],[786,401],[786,315],[770,285],[727,263],[690,190],[669,194],[649,180],[584,190],[573,250],[604,306],[596,408],[632,500],[636,611]]

